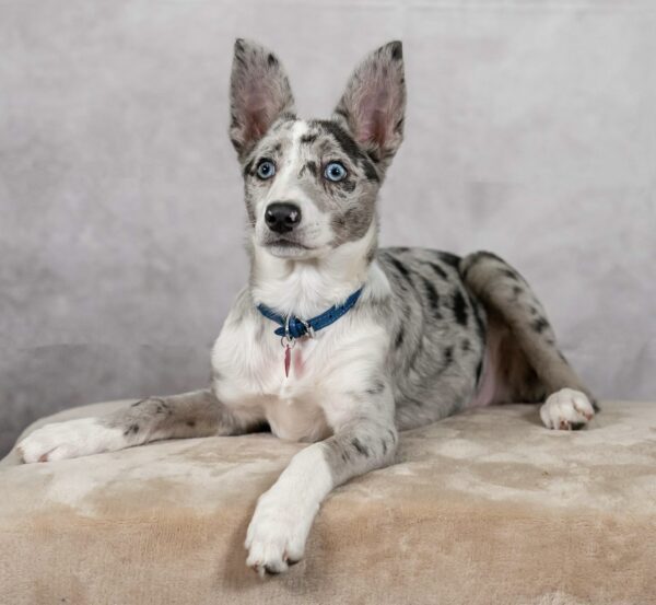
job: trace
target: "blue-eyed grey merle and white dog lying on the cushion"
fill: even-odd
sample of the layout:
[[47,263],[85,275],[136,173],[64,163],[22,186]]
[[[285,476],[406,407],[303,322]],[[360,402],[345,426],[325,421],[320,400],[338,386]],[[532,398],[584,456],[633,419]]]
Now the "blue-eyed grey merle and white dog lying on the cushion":
[[25,463],[262,426],[309,442],[258,500],[247,565],[284,572],[323,500],[395,459],[399,432],[472,406],[541,404],[579,429],[595,398],[526,280],[488,252],[378,248],[376,198],[403,138],[400,42],[370,54],[329,119],[300,119],[278,57],[234,46],[230,137],[244,176],[248,284],[212,349],[210,388],[47,424]]

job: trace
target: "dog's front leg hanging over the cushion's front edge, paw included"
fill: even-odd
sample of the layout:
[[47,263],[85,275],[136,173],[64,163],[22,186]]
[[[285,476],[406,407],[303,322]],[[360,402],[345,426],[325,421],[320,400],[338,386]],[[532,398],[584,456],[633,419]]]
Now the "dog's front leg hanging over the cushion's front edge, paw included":
[[350,478],[390,464],[397,441],[393,419],[359,418],[298,452],[258,500],[246,535],[247,565],[263,577],[298,561],[324,498]]

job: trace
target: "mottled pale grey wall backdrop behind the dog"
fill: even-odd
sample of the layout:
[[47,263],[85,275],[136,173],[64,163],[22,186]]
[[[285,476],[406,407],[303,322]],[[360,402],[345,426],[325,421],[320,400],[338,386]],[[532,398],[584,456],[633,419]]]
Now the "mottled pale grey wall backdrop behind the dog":
[[656,20],[630,1],[0,2],[0,452],[71,405],[198,387],[244,282],[235,36],[307,116],[405,42],[384,244],[491,248],[602,397],[656,395]]

